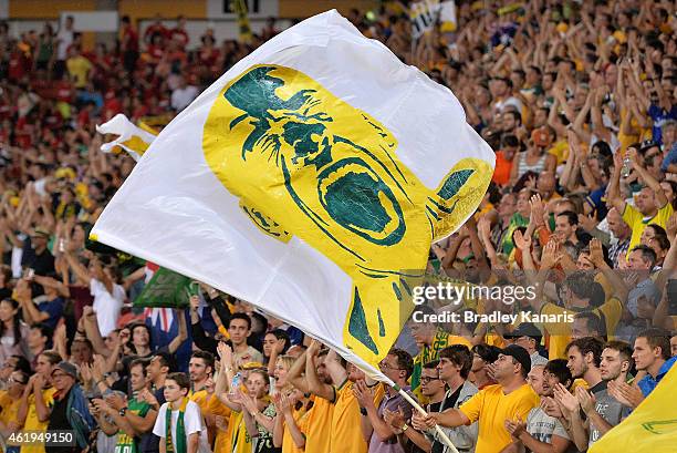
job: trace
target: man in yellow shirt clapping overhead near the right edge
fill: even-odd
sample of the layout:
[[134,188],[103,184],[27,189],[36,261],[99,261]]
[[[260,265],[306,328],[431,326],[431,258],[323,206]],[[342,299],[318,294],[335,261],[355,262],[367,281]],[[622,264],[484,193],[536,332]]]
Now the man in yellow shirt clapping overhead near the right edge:
[[623,213],[623,220],[633,229],[628,247],[628,250],[632,250],[639,244],[642,233],[647,225],[659,225],[666,228],[667,220],[673,215],[674,209],[673,205],[668,203],[660,183],[639,164],[637,150],[633,146],[628,147],[627,155],[633,168],[646,185],[635,198],[637,206],[628,205],[625,203],[625,197],[621,195],[623,157],[619,153],[614,155],[614,173],[610,181],[606,199],[610,207],[615,207],[618,213]]

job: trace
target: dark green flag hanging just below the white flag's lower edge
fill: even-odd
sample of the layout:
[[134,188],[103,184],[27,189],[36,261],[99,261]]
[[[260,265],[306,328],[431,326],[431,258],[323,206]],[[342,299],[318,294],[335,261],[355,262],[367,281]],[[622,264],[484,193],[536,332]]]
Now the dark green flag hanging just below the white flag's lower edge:
[[197,295],[197,282],[160,267],[142,294],[134,300],[134,306],[186,308],[190,296]]

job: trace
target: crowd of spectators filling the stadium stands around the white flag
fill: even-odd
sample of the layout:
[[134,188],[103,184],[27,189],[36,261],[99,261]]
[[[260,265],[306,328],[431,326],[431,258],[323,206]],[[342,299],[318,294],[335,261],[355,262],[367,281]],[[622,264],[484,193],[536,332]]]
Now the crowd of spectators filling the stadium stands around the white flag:
[[[19,37],[0,23],[3,451],[449,451],[438,424],[462,453],[584,452],[660,384],[677,354],[675,2],[458,0],[454,32],[415,41],[407,3],[348,19],[448,86],[497,157],[430,271],[537,288],[417,310],[541,318],[409,321],[381,371],[424,415],[206,285],[186,309],[134,307],[157,267],[88,239],[134,166],[100,151],[95,125],[123,113],[162,128],[274,21],[249,42],[207,29],[194,51],[180,17],[143,35],[125,17],[116,44],[93,49],[72,18]],[[73,445],[11,442],[45,430]]]

